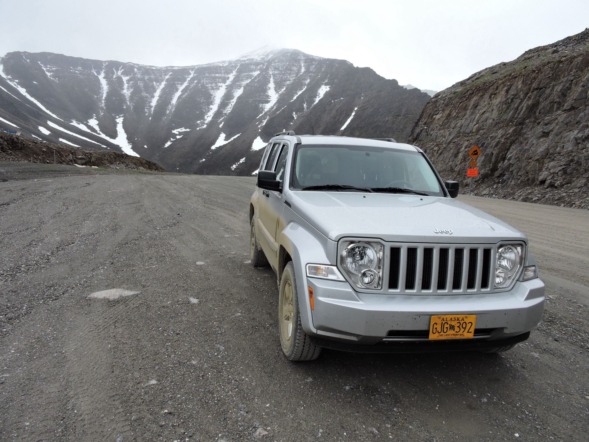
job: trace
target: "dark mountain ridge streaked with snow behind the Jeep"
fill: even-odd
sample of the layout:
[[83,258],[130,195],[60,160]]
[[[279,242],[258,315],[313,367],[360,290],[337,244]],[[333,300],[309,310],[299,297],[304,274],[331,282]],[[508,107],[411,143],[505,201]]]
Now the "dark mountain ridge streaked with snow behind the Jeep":
[[50,52],[0,60],[0,127],[167,170],[251,174],[276,132],[406,140],[429,95],[301,51],[155,67]]

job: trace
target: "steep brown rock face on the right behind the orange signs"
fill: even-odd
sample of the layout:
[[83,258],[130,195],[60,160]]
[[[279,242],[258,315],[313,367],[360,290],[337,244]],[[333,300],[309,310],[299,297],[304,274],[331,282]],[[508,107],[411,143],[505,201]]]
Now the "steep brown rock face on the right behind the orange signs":
[[[525,52],[437,93],[413,127],[444,179],[475,193],[589,208],[589,29]],[[465,188],[462,187],[464,192]]]

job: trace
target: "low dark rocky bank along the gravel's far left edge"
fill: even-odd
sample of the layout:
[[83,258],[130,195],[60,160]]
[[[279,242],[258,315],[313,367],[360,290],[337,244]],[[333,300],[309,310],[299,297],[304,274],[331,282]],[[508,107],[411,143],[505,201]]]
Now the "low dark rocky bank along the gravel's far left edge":
[[64,144],[45,143],[31,138],[0,132],[0,161],[27,161],[44,164],[111,167],[112,169],[157,170],[164,168],[153,161],[104,149],[82,149]]

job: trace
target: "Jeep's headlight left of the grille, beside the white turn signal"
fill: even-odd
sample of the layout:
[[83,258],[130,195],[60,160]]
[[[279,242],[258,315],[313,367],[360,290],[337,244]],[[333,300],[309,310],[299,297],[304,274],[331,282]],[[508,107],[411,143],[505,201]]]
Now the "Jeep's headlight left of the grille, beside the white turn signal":
[[356,287],[380,289],[382,286],[382,244],[344,241],[340,250],[340,266]]

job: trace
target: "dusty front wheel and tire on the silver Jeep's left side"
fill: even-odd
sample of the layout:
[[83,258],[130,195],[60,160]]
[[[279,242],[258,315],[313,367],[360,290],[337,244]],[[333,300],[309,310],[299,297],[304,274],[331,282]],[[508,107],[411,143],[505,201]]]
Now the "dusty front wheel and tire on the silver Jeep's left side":
[[300,324],[299,298],[294,279],[294,265],[290,261],[280,278],[278,300],[278,329],[280,347],[290,361],[312,361],[321,353]]

